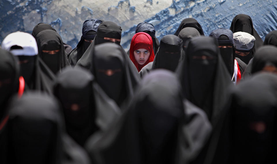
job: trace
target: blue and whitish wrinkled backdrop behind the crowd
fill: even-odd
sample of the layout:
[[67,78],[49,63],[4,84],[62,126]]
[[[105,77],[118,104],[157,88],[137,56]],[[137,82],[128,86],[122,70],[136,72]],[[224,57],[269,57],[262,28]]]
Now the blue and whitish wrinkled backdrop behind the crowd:
[[195,18],[205,35],[229,28],[233,17],[247,14],[262,39],[277,30],[276,0],[0,0],[0,43],[11,32],[31,33],[38,23],[51,24],[73,48],[85,20],[116,22],[122,28],[121,45],[128,49],[136,25],[146,21],[156,37],[174,34],[184,18]]

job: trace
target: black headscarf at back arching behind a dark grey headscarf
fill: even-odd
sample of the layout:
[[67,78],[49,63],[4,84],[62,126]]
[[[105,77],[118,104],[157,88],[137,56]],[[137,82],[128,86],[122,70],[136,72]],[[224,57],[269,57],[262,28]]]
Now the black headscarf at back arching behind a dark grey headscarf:
[[194,18],[186,18],[184,19],[180,26],[178,27],[178,29],[176,30],[175,34],[176,36],[179,35],[179,32],[185,28],[185,27],[193,27],[193,28],[196,28],[196,30],[199,31],[199,33],[201,35],[204,35],[204,32],[203,32],[203,29],[202,29],[202,26],[197,22],[197,20],[195,20]]

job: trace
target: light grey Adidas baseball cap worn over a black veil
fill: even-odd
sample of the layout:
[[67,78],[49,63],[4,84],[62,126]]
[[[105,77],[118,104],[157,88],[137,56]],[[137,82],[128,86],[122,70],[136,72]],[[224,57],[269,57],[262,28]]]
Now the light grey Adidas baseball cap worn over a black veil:
[[235,50],[239,52],[249,52],[253,48],[254,41],[256,40],[251,34],[241,31],[235,32],[233,38]]

